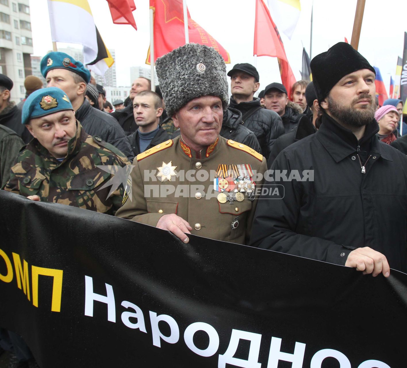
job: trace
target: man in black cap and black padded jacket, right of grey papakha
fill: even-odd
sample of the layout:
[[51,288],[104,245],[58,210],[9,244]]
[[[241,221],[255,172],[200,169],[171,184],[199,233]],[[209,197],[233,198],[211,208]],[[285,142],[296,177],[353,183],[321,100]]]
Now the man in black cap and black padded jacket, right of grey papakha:
[[259,75],[254,66],[236,64],[228,72],[230,77],[230,107],[242,113],[243,125],[258,139],[263,156],[268,157],[274,140],[284,134],[284,127],[278,114],[269,112],[260,105],[254,92],[260,87]]

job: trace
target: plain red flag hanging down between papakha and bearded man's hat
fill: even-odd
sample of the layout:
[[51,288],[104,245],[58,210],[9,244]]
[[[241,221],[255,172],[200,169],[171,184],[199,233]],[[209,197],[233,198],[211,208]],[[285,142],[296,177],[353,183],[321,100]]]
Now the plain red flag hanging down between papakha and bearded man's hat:
[[291,88],[296,79],[288,62],[280,33],[263,0],[256,0],[253,55],[278,58],[282,84],[287,90],[287,95],[291,96]]

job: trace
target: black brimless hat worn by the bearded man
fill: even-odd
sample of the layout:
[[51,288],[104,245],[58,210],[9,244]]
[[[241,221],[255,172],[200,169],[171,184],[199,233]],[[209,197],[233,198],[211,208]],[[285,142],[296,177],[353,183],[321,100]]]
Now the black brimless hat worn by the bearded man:
[[369,69],[376,75],[369,62],[346,42],[338,42],[315,56],[311,60],[311,72],[318,102],[321,103],[345,75],[361,69]]

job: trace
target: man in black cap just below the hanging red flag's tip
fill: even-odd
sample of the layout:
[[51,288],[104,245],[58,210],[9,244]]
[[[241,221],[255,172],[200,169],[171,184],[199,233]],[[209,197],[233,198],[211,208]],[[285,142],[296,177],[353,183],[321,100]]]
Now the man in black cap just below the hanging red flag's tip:
[[297,103],[289,101],[287,90],[281,83],[271,83],[264,90],[264,103],[267,110],[276,112],[287,133],[297,127],[302,116],[302,108]]

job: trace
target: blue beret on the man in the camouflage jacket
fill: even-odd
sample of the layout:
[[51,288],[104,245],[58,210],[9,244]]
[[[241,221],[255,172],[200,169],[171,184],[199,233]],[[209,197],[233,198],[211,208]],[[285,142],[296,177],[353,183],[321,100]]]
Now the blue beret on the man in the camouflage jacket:
[[41,88],[31,93],[23,105],[22,124],[63,110],[74,110],[68,96],[57,87]]

